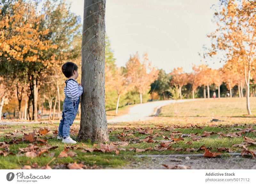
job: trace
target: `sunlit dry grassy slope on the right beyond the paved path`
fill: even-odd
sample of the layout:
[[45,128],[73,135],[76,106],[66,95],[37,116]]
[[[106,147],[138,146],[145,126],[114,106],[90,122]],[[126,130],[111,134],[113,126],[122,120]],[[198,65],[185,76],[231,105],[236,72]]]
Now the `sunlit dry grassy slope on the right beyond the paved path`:
[[[256,116],[256,97],[250,97],[252,116]],[[162,107],[158,116],[170,117],[247,117],[246,98],[210,98],[203,101],[173,103]]]

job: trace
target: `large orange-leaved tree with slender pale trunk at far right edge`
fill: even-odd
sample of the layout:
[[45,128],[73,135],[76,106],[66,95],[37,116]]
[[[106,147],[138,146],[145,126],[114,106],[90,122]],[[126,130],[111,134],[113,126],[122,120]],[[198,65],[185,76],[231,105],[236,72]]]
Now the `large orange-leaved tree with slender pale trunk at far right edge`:
[[222,51],[226,53],[227,60],[237,59],[233,65],[242,63],[247,87],[246,108],[248,115],[252,115],[249,93],[250,75],[256,58],[255,6],[247,0],[220,0],[214,17],[218,28],[208,35],[212,38],[212,48],[208,54],[211,56]]

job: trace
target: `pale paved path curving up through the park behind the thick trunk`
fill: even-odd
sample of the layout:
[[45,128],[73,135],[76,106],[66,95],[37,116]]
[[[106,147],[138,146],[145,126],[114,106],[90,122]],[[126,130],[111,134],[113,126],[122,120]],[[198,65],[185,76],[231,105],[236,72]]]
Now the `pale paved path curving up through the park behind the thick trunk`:
[[159,109],[164,105],[168,105],[171,103],[183,103],[183,102],[201,101],[201,100],[205,100],[205,99],[196,98],[196,99],[182,99],[182,100],[161,100],[161,101],[137,104],[130,108],[128,114],[118,116],[108,120],[108,124],[113,124],[117,122],[144,121],[148,119],[153,119],[154,116],[157,115]]

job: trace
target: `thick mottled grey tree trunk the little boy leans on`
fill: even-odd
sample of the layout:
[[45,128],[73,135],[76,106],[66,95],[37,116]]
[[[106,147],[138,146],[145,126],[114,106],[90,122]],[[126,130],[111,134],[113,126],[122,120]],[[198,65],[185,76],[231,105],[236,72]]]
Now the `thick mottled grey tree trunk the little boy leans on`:
[[81,123],[78,141],[109,141],[105,109],[106,0],[84,0]]

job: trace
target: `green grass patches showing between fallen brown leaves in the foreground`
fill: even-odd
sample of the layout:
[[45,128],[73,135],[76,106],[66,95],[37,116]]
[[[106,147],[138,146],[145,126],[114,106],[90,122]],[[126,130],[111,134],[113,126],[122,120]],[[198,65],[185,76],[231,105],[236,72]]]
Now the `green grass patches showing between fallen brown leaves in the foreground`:
[[[159,125],[155,124],[155,123],[150,123],[150,121],[148,121],[148,125],[155,126],[155,125]],[[203,125],[205,123],[201,123],[198,124]],[[230,124],[230,122],[228,123]],[[148,126],[145,125],[145,126]],[[163,124],[161,123],[160,125],[169,125],[170,124]],[[173,125],[173,124],[172,124]],[[225,125],[225,124],[224,124]],[[21,125],[8,125],[7,128],[1,128],[0,131],[0,142],[5,141],[10,141],[11,138],[5,138],[4,136],[6,135],[6,132],[13,132],[15,129],[19,130],[19,131],[24,131],[25,133],[29,133],[32,132],[33,129],[39,130],[39,128],[44,128],[47,127],[49,130],[53,131],[53,130],[57,130],[58,127],[58,123],[53,123],[51,125],[46,125],[46,124],[27,124],[24,125],[26,127],[21,127]],[[124,125],[126,127],[130,127],[130,128],[139,128],[141,125],[138,123],[133,123],[132,125],[127,126]],[[236,127],[224,127],[224,128],[219,128],[216,126],[213,126],[211,124],[209,124],[208,126],[206,125],[203,129],[199,129],[199,128],[176,128],[174,129],[174,131],[179,131],[183,134],[186,133],[197,133],[197,135],[201,135],[204,131],[207,132],[222,132],[222,133],[229,133],[229,132],[235,132],[235,130],[231,130],[232,128],[247,128],[248,125],[244,125],[241,124],[239,126]],[[74,129],[75,132],[78,132],[79,129],[79,124],[73,124],[71,126],[71,129]],[[109,133],[109,139],[110,142],[117,142],[120,141],[120,139],[117,138],[117,135],[119,135],[120,133],[123,132],[122,130],[122,126],[120,127],[120,125],[113,125],[112,127],[109,125],[109,129],[110,128],[115,128],[115,130],[113,132]],[[225,129],[229,129],[225,130]],[[256,129],[256,125],[253,125],[253,129]],[[155,134],[156,132],[164,132],[162,135],[164,136],[168,136],[171,131],[161,131],[158,129],[155,129],[153,134]],[[173,132],[173,131],[172,131]],[[125,132],[125,133],[129,133],[129,132]],[[18,138],[21,138],[23,136],[23,134],[20,134],[18,136]],[[133,136],[128,136],[125,137],[126,139],[132,139],[135,137],[139,137],[140,139],[143,139],[145,137],[147,137],[147,134],[140,134],[139,132],[134,133]],[[242,137],[239,138],[229,138],[229,137],[222,137],[221,139],[218,138],[219,134],[213,134],[210,137],[207,138],[203,138],[201,140],[198,141],[192,141],[192,145],[188,145],[186,144],[187,141],[191,140],[191,138],[188,137],[184,137],[184,141],[178,141],[175,144],[172,144],[172,148],[189,148],[189,147],[193,147],[193,148],[199,148],[200,146],[206,146],[206,147],[212,147],[212,152],[217,151],[218,147],[227,147],[227,148],[231,148],[232,145],[234,144],[241,144],[242,142],[244,142],[243,136],[249,137],[251,139],[255,139],[256,140],[256,135],[252,132],[243,134]],[[52,146],[58,146],[58,148],[54,149],[54,150],[50,150],[49,152],[55,152],[54,157],[56,157],[56,159],[54,159],[51,163],[50,166],[54,167],[57,164],[65,164],[65,163],[73,163],[76,161],[76,163],[80,163],[82,161],[84,161],[84,164],[86,165],[98,165],[100,168],[105,167],[105,166],[111,166],[113,168],[118,168],[121,165],[124,164],[129,164],[130,162],[136,160],[139,161],[141,160],[140,158],[136,157],[136,155],[141,155],[141,154],[193,154],[193,153],[204,153],[203,150],[198,151],[198,152],[184,152],[184,151],[174,151],[174,150],[167,150],[167,151],[146,151],[146,152],[141,152],[141,153],[136,153],[135,151],[120,151],[120,153],[117,155],[115,152],[112,153],[102,153],[102,152],[87,152],[87,153],[83,153],[80,150],[72,150],[70,149],[70,151],[74,151],[77,153],[76,156],[74,157],[67,157],[67,158],[58,158],[57,156],[59,155],[59,153],[64,149],[64,147],[66,146],[66,144],[61,143],[61,140],[57,140],[56,138],[52,138],[53,135],[52,133],[47,134],[45,136],[38,136],[39,138],[42,139],[46,139],[47,137],[50,139],[47,139],[48,144],[52,145]],[[76,137],[76,134],[74,136],[72,136],[73,138]],[[170,136],[168,136],[170,137]],[[176,136],[178,137],[178,136]],[[158,137],[154,138],[154,140],[164,140],[163,137],[161,135],[159,135]],[[84,147],[93,147],[93,144],[99,144],[99,143],[84,143],[86,146],[83,146],[81,142],[78,142],[76,145],[80,146],[82,148]],[[135,144],[129,144],[129,146],[119,146],[121,148],[132,148],[132,147],[136,147],[136,148],[140,148],[140,149],[145,149],[148,147],[154,147],[155,145],[159,145],[159,143],[135,143]],[[15,155],[7,155],[7,156],[3,156],[0,155],[0,169],[20,169],[22,168],[24,165],[32,165],[34,162],[37,162],[39,167],[45,166],[51,159],[52,157],[50,157],[47,153],[42,154],[40,157],[35,157],[33,159],[26,157],[26,156],[18,156],[17,152],[19,151],[19,147],[20,148],[25,148],[29,145],[28,141],[22,141],[19,144],[10,144],[10,152],[13,152]],[[41,147],[41,146],[40,146]],[[43,147],[43,146],[42,146]],[[255,150],[256,147],[255,146],[248,146],[249,150]],[[1,149],[3,150],[3,149]],[[232,148],[233,151],[236,152],[241,152],[241,148],[235,147]],[[226,153],[226,152],[222,152],[222,153]],[[44,156],[45,155],[45,156]]]

